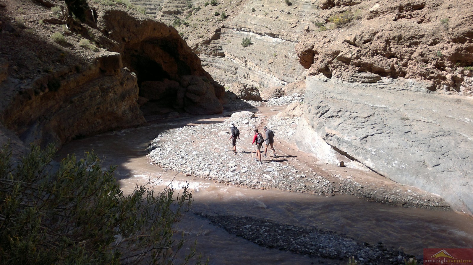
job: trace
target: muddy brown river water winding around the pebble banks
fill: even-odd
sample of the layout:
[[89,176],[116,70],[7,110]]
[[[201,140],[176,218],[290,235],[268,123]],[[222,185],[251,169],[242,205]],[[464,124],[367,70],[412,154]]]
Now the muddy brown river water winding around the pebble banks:
[[[351,238],[371,244],[383,242],[387,247],[407,254],[421,255],[422,248],[472,248],[473,219],[455,212],[393,207],[369,203],[351,196],[315,196],[289,193],[277,189],[240,188],[163,172],[145,157],[150,140],[170,128],[186,124],[214,123],[221,117],[204,120],[182,119],[154,123],[64,145],[60,154],[83,154],[94,150],[105,158],[105,165],[118,165],[115,177],[124,192],[137,184],[160,178],[156,188],[181,187],[186,181],[193,188],[193,210],[208,214],[234,214],[271,219],[276,222],[339,231]],[[229,235],[222,229],[193,214],[187,214],[180,227],[196,237],[198,250],[210,256],[214,265],[311,264],[314,260],[275,249],[257,246],[245,239]],[[335,261],[334,261],[335,262]],[[339,263],[333,263],[339,264]]]

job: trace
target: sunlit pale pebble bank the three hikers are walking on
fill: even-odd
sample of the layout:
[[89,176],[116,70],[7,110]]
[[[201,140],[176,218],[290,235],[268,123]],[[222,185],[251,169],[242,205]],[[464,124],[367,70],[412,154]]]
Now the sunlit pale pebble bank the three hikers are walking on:
[[[303,97],[285,96],[264,104],[277,106],[289,101],[292,104],[288,109],[294,109],[294,104],[301,104]],[[247,107],[252,103],[240,102],[233,106]],[[395,183],[372,172],[318,163],[311,155],[296,150],[294,133],[299,117],[291,116],[288,111],[281,111],[284,115],[274,115],[278,111],[271,109],[269,113],[255,112],[236,112],[224,122],[167,130],[149,143],[149,160],[165,170],[248,188],[278,188],[326,196],[351,194],[391,205],[448,209],[437,195]],[[228,140],[232,121],[240,129],[236,155],[232,154]],[[253,129],[262,130],[263,126],[275,131],[278,157],[273,157],[270,150],[268,157],[264,157],[263,148],[263,163],[260,164],[254,159],[251,141]]]

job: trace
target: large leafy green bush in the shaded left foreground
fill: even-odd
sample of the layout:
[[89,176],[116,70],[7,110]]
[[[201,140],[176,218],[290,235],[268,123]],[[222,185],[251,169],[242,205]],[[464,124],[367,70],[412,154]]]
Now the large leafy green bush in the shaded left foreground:
[[193,200],[188,185],[125,196],[115,167],[103,171],[95,154],[56,166],[54,156],[52,145],[31,146],[18,162],[9,145],[0,151],[0,264],[173,264],[184,243],[173,224]]

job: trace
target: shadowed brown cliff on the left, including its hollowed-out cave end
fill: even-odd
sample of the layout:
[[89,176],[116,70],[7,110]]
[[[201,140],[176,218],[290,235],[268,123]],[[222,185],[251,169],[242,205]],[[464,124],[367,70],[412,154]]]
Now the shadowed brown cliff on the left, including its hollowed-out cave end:
[[143,124],[139,94],[146,105],[172,111],[222,111],[224,87],[174,28],[119,7],[96,8],[97,26],[77,26],[56,43],[48,35],[61,26],[44,25],[45,7],[25,6],[31,14],[22,13],[29,19],[22,27],[1,19],[2,142],[61,145]]

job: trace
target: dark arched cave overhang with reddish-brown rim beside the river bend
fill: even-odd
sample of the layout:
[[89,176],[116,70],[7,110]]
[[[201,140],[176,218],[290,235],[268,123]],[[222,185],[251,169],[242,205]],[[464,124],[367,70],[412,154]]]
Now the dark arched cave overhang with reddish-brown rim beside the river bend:
[[[151,96],[147,104],[194,114],[223,111],[224,87],[202,68],[175,28],[114,9],[105,10],[98,25],[114,41],[109,49],[123,54],[123,65],[137,75],[140,96]],[[161,96],[152,95],[155,89]]]

